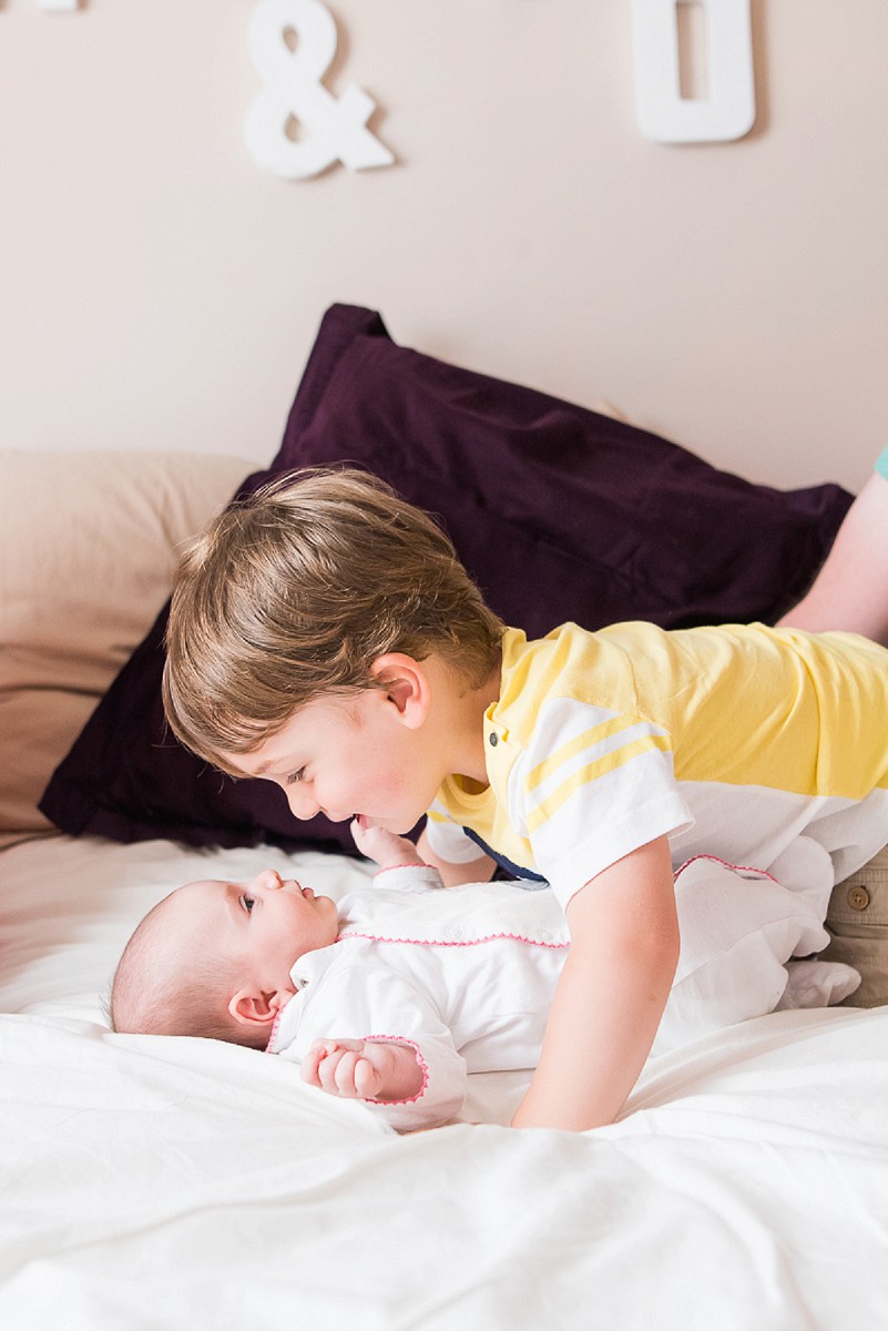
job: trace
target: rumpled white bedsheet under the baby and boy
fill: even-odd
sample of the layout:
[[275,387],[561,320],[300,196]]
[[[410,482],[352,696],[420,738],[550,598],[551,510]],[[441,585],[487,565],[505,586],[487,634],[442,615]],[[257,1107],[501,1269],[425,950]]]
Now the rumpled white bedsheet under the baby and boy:
[[[332,896],[368,870],[295,857]],[[778,1013],[650,1062],[619,1123],[512,1131],[526,1077],[397,1137],[292,1065],[108,1032],[132,926],[277,851],[0,855],[0,1327],[877,1331],[888,1009]]]

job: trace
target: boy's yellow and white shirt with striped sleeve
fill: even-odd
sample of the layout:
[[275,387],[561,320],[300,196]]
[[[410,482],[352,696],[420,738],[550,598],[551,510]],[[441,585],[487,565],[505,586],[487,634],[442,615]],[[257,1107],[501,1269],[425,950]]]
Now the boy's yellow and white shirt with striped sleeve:
[[760,869],[804,839],[836,881],[888,843],[888,651],[853,634],[506,630],[484,741],[491,784],[444,781],[432,848],[476,858],[472,833],[562,905],[658,836]]

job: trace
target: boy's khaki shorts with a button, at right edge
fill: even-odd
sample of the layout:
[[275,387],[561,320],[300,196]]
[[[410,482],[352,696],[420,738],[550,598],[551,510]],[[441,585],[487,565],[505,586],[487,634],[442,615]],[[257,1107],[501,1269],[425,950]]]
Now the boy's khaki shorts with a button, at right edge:
[[836,884],[826,922],[832,941],[820,958],[844,961],[863,977],[860,988],[844,1000],[844,1005],[879,1008],[888,1004],[888,847],[863,869]]

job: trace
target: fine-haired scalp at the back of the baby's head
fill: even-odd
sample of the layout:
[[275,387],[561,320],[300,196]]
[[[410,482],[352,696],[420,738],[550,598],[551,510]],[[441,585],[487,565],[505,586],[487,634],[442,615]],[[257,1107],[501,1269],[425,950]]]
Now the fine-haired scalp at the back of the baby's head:
[[231,977],[211,956],[209,940],[189,953],[170,948],[169,918],[175,892],[145,916],[124,948],[112,980],[112,1030],[128,1036],[198,1036],[227,1044],[265,1045],[227,1010]]

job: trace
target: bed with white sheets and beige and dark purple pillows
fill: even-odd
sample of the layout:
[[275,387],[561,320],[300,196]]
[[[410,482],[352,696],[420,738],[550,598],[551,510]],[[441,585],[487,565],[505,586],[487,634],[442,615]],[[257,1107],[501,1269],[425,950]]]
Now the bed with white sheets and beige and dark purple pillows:
[[[339,307],[330,319],[324,326],[336,334],[339,361],[351,346],[343,329],[387,342],[374,330],[372,311]],[[323,354],[322,329],[280,465],[330,461],[323,439],[348,461],[400,470],[391,441],[372,457],[360,443],[364,435],[378,442],[375,423],[354,429],[348,394],[360,391],[364,401],[375,391],[362,386],[355,365],[344,381],[348,393],[340,382],[336,395],[342,429],[351,426],[346,449],[334,405],[322,402],[318,389]],[[411,381],[400,433],[416,422],[416,402],[435,393],[440,426],[441,385],[452,390],[448,402],[456,401],[460,419],[483,426],[483,446],[468,447],[452,417],[436,435],[448,458],[457,455],[455,498],[431,455],[421,474],[403,473],[412,498],[437,496],[472,558],[477,512],[447,504],[467,496],[485,502],[479,459],[489,467],[497,443],[484,417],[485,393],[496,395],[500,386],[477,377],[467,383],[453,367],[444,367],[439,382],[429,358],[411,355],[400,358],[397,373],[421,371],[421,391]],[[376,353],[371,371],[380,385]],[[384,375],[380,391],[395,411]],[[529,419],[525,391],[518,398]],[[514,486],[520,504],[525,486],[525,507],[534,510],[528,530],[518,531],[508,511],[510,494],[497,496],[497,512],[485,520],[505,512],[514,542],[536,543],[532,555],[530,546],[521,547],[517,568],[533,558],[541,578],[545,558],[561,559],[574,582],[600,576],[601,598],[615,595],[619,574],[633,604],[661,596],[639,606],[661,622],[711,616],[715,603],[743,612],[746,602],[735,604],[743,596],[759,598],[744,618],[776,612],[774,598],[792,595],[792,578],[810,575],[847,507],[835,487],[792,495],[747,488],[596,413],[590,427],[606,435],[609,455],[630,445],[647,450],[638,454],[639,467],[657,469],[659,495],[674,476],[687,496],[682,530],[693,528],[705,483],[707,502],[721,496],[726,512],[744,510],[747,555],[748,514],[760,506],[762,535],[752,544],[768,547],[756,550],[759,562],[771,559],[751,586],[755,559],[742,558],[740,546],[735,563],[715,552],[707,588],[691,575],[677,538],[669,583],[658,591],[638,523],[626,532],[621,522],[611,578],[598,555],[590,567],[561,544],[537,504],[548,492],[557,507],[565,476],[572,494],[581,484],[576,430],[558,474],[553,411],[544,403],[532,414],[549,431],[537,454],[526,429],[516,433],[509,422],[506,431],[514,466],[504,490]],[[499,401],[500,426],[506,415]],[[428,449],[429,431],[420,434]],[[295,455],[294,439],[308,454]],[[532,461],[540,479],[529,491],[520,471]],[[502,476],[501,455],[496,466]],[[883,1326],[885,1008],[774,1013],[650,1059],[621,1119],[578,1135],[504,1126],[529,1071],[475,1077],[457,1121],[397,1135],[359,1103],[304,1086],[282,1059],[108,1029],[104,998],[117,956],[138,918],[177,884],[246,878],[270,865],[339,896],[371,872],[348,853],[342,829],[294,832],[269,803],[269,783],[255,783],[258,795],[235,792],[246,801],[235,808],[217,773],[183,767],[169,737],[152,729],[177,546],[258,479],[247,461],[213,454],[0,453],[0,1324],[5,1331]],[[610,511],[619,496],[598,475]],[[639,507],[638,495],[635,475],[626,511]],[[653,514],[661,531],[662,520]],[[719,526],[727,540],[730,524]],[[619,543],[614,531],[606,534],[609,546]],[[687,539],[690,548],[698,536],[690,530]],[[476,550],[479,563],[481,556]],[[500,572],[479,568],[483,578]],[[565,618],[549,590],[528,615]],[[506,586],[492,595],[504,612],[522,608],[508,604]],[[565,595],[578,595],[577,587]],[[598,607],[602,618],[613,611]],[[194,793],[201,783],[206,797]]]

